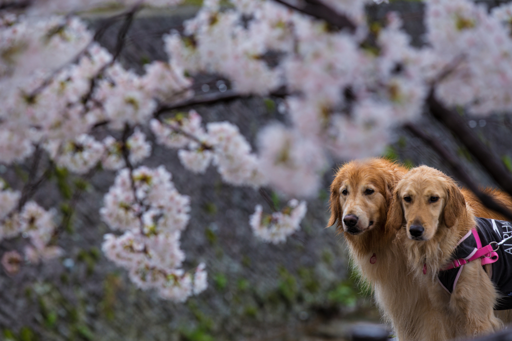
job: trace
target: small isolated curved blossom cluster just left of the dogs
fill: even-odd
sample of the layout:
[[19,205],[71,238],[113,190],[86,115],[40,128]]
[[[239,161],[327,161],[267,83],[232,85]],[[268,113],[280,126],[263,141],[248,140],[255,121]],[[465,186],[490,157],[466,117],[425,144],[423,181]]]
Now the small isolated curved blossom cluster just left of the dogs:
[[256,206],[254,214],[249,218],[254,235],[267,243],[283,243],[295,232],[306,215],[306,202],[293,199],[279,212],[264,215],[261,205]]

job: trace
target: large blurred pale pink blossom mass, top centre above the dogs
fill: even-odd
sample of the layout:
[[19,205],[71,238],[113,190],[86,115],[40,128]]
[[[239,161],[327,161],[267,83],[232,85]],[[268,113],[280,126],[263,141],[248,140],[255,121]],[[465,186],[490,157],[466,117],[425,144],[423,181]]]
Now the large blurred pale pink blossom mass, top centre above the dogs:
[[292,93],[285,101],[291,126],[274,123],[259,133],[257,184],[313,196],[331,156],[382,153],[391,127],[421,114],[428,90],[422,74],[431,59],[410,46],[393,14],[377,46],[365,48],[365,3],[326,2],[358,25],[353,35],[327,32],[323,23],[272,1],[237,0],[221,11],[210,0],[186,22],[185,36],[167,36],[171,58],[191,73],[220,73],[242,94],[283,85]]

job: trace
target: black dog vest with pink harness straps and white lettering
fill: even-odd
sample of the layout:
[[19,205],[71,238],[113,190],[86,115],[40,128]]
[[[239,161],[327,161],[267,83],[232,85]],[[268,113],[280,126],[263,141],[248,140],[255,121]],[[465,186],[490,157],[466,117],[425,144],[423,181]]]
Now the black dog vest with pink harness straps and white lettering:
[[475,218],[475,222],[477,228],[457,243],[450,262],[439,270],[437,280],[447,292],[452,293],[464,265],[480,259],[482,266],[492,264],[491,280],[502,294],[494,309],[511,309],[512,241],[509,239],[512,239],[512,223],[484,218]]

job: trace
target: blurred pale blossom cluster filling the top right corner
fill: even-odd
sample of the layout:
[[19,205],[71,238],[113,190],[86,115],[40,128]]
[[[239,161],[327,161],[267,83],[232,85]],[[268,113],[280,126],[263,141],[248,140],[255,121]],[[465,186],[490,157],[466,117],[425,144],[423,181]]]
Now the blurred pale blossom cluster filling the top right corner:
[[[446,103],[472,113],[512,108],[512,39],[510,5],[494,8],[471,1],[432,1],[426,23],[436,62],[460,59],[437,87]],[[456,87],[456,88],[454,88]]]

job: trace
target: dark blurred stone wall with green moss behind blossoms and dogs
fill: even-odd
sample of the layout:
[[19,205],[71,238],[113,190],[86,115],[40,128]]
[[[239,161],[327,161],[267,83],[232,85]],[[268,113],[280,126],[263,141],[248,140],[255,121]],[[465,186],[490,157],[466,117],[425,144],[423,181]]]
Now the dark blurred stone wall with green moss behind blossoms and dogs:
[[[401,13],[414,45],[421,46],[422,4],[397,1],[371,6],[369,18],[383,20],[389,10]],[[165,59],[162,34],[179,29],[196,11],[197,7],[184,6],[177,11],[141,13],[128,34],[121,62],[142,72],[143,63]],[[92,28],[103,20],[101,14],[85,18]],[[105,33],[102,45],[113,49],[119,26]],[[208,83],[210,91],[217,91],[214,79],[198,79],[198,89]],[[205,122],[229,120],[237,124],[254,145],[259,127],[283,120],[275,110],[278,104],[279,99],[252,98],[198,106],[196,110]],[[475,131],[500,157],[512,157],[508,142],[512,122],[508,117],[495,115],[476,122]],[[475,179],[492,185],[439,124],[425,115],[421,125],[456,151]],[[429,146],[400,130],[388,156],[449,173]],[[154,292],[137,289],[123,269],[105,259],[100,247],[109,229],[101,222],[98,209],[115,176],[105,172],[91,179],[72,225],[60,238],[65,257],[24,267],[12,277],[0,271],[0,339],[320,340],[340,337],[338,327],[346,321],[378,321],[367,293],[361,293],[349,277],[342,237],[333,228],[325,228],[332,169],[326,171],[317,198],[308,202],[301,230],[285,244],[272,245],[255,238],[248,225],[256,204],[269,211],[257,191],[224,184],[213,167],[201,176],[187,172],[175,151],[155,145],[147,165],[159,164],[173,174],[179,192],[191,197],[191,219],[182,237],[185,268],[205,262],[208,289],[185,304],[174,304],[159,299]],[[23,167],[0,169],[14,186],[16,174],[23,171]],[[65,195],[65,185],[72,183],[71,175],[55,176],[38,191],[36,200],[46,207],[54,206]],[[279,200],[286,203],[283,198]],[[0,251],[17,244],[19,241],[3,242]],[[334,323],[326,324],[332,318]]]

